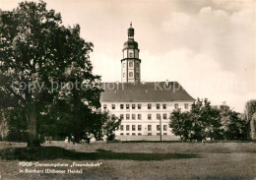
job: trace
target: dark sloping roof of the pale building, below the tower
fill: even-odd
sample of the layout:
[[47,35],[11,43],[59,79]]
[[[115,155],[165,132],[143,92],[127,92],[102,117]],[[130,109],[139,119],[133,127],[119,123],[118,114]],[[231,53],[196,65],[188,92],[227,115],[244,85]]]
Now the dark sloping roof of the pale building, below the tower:
[[101,101],[194,101],[177,82],[102,83]]

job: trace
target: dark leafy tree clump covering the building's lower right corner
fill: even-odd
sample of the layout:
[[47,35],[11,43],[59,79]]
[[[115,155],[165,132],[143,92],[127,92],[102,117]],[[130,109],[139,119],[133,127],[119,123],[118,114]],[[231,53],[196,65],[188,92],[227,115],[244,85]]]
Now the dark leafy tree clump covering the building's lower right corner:
[[208,99],[198,98],[190,111],[175,109],[169,127],[181,140],[243,140],[247,124],[226,104],[213,106]]

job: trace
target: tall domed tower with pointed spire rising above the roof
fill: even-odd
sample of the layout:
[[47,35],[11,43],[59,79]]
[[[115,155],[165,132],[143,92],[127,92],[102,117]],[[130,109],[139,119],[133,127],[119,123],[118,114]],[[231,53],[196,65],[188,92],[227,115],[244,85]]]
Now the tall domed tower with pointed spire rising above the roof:
[[134,40],[134,29],[132,23],[128,29],[128,40],[123,44],[122,82],[139,83],[141,81],[141,60],[139,59],[140,49],[138,43]]

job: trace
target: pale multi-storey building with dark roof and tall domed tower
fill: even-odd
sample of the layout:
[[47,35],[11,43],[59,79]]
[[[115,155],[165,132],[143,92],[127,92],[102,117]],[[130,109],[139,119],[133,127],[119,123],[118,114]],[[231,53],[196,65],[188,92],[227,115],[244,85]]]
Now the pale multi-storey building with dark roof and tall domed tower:
[[174,108],[189,110],[194,98],[177,82],[141,82],[139,52],[131,25],[121,60],[122,83],[102,85],[102,108],[123,118],[117,139],[154,139],[160,132],[174,137],[168,127],[170,113]]

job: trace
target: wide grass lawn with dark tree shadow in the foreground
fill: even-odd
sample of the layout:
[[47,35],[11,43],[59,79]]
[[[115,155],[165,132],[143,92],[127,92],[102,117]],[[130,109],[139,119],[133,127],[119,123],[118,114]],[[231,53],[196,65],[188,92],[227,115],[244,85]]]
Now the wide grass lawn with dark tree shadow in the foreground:
[[[250,179],[256,177],[255,143],[92,143],[60,142],[26,149],[0,143],[1,179]],[[100,163],[95,167],[23,167],[39,163]],[[19,169],[82,169],[82,174],[19,173]]]

